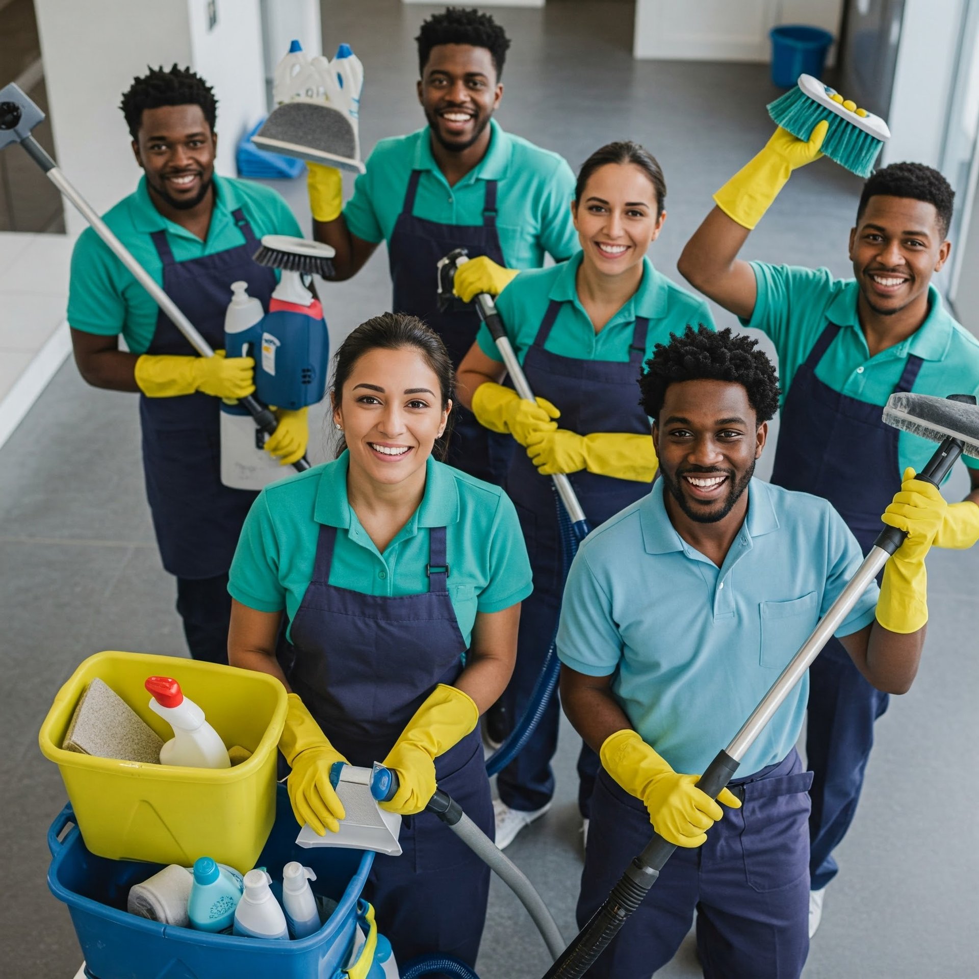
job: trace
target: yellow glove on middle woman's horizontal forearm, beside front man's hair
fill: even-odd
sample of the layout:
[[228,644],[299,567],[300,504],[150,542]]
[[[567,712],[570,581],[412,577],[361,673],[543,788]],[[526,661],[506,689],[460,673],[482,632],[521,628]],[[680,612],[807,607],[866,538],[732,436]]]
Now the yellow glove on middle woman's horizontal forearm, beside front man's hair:
[[586,469],[598,476],[652,483],[659,466],[652,436],[631,432],[543,432],[528,444],[527,454],[542,476]]

